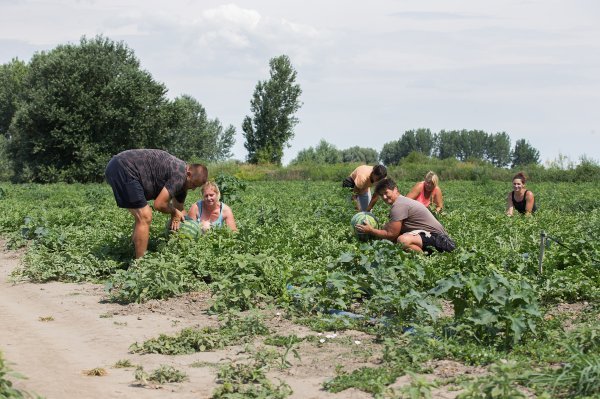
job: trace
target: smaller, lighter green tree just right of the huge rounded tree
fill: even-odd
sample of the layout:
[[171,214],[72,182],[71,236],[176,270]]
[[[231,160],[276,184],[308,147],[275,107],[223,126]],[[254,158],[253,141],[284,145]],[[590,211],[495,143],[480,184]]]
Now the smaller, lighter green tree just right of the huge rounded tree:
[[184,160],[222,161],[231,157],[235,128],[223,128],[219,119],[209,119],[205,108],[193,97],[177,97],[170,105],[172,122],[166,150]]

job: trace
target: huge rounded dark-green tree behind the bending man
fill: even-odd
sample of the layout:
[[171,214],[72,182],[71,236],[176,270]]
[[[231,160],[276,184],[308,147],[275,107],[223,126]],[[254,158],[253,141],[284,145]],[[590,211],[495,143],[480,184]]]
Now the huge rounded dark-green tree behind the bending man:
[[84,37],[35,54],[9,128],[16,179],[101,181],[119,151],[165,148],[165,93],[122,42]]

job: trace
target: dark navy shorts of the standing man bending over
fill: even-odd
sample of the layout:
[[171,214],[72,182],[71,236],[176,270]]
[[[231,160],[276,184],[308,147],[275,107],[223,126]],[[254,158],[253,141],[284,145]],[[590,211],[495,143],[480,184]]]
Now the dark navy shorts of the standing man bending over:
[[144,188],[139,181],[127,174],[118,159],[110,160],[106,166],[105,176],[113,189],[119,208],[140,209],[148,205]]

